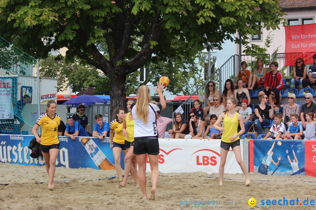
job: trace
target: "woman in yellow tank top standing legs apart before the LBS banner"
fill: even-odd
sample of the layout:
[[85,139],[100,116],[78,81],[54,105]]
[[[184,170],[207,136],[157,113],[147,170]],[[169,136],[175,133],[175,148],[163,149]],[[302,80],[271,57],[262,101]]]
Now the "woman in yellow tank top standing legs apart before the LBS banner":
[[[228,150],[231,147],[234,151],[236,160],[240,165],[242,172],[246,178],[246,186],[250,184],[250,179],[248,176],[248,170],[245,163],[241,159],[240,151],[240,140],[239,136],[245,132],[245,126],[243,123],[243,118],[241,114],[235,111],[237,105],[237,99],[228,98],[227,99],[227,112],[223,112],[217,119],[214,124],[214,128],[222,132],[222,141],[221,141],[221,163],[219,166],[219,185],[223,185],[223,176],[224,176],[224,167],[226,163],[226,158]],[[220,123],[223,120],[223,127],[219,127]],[[240,124],[241,130],[237,132],[238,123]]]

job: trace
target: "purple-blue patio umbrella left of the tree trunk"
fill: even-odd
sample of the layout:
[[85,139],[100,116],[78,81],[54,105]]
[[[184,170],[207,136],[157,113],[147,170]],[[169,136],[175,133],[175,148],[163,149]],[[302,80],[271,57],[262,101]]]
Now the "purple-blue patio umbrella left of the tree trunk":
[[69,99],[68,101],[64,102],[63,104],[68,105],[69,107],[77,107],[80,104],[88,106],[91,104],[106,104],[106,103],[107,103],[106,100],[103,100],[103,99],[96,97],[94,95],[79,95],[77,97]]

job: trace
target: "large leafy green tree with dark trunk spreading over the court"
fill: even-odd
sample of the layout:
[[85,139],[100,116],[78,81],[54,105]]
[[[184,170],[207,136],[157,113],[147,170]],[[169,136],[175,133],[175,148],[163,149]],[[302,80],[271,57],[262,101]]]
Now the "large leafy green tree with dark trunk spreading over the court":
[[114,116],[125,107],[126,75],[142,65],[238,42],[236,31],[247,44],[256,22],[276,29],[283,15],[276,0],[2,0],[0,35],[40,58],[67,47],[67,61],[79,56],[103,71]]

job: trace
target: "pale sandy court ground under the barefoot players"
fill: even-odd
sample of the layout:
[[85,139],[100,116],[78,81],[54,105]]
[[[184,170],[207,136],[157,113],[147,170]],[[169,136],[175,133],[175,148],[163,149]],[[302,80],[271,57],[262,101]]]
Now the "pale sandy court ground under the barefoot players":
[[[128,185],[120,188],[114,170],[91,168],[56,168],[53,191],[47,190],[45,166],[22,166],[0,163],[0,209],[211,209],[235,207],[249,209],[248,200],[299,199],[316,201],[316,178],[311,176],[265,176],[250,173],[251,184],[244,186],[243,174],[225,174],[224,185],[219,186],[218,174],[160,173],[156,199],[141,200],[140,188],[129,178]],[[101,179],[101,180],[98,180]],[[27,184],[26,184],[27,183]],[[4,185],[7,184],[7,185]],[[147,174],[147,194],[150,193],[150,173]],[[213,204],[185,205],[182,202],[210,201]],[[226,202],[226,203],[225,203]],[[296,201],[295,201],[296,202]],[[233,203],[233,204],[231,204]],[[296,204],[296,203],[295,203]],[[269,206],[265,205],[267,208]],[[273,207],[277,207],[273,206]],[[271,206],[270,206],[271,207]],[[316,206],[309,205],[310,209]]]

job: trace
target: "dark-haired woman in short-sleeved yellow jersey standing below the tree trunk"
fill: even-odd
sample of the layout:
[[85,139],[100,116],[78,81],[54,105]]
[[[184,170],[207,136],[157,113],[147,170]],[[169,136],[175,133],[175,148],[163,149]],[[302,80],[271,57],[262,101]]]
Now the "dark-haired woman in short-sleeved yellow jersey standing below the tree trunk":
[[[124,110],[118,109],[116,111],[116,119],[110,123],[110,148],[113,151],[115,169],[119,176],[119,181],[122,181],[122,168],[121,168],[121,151],[123,150],[124,155],[126,155],[125,149],[125,139],[123,137],[123,117]],[[113,139],[113,134],[114,139]]]

